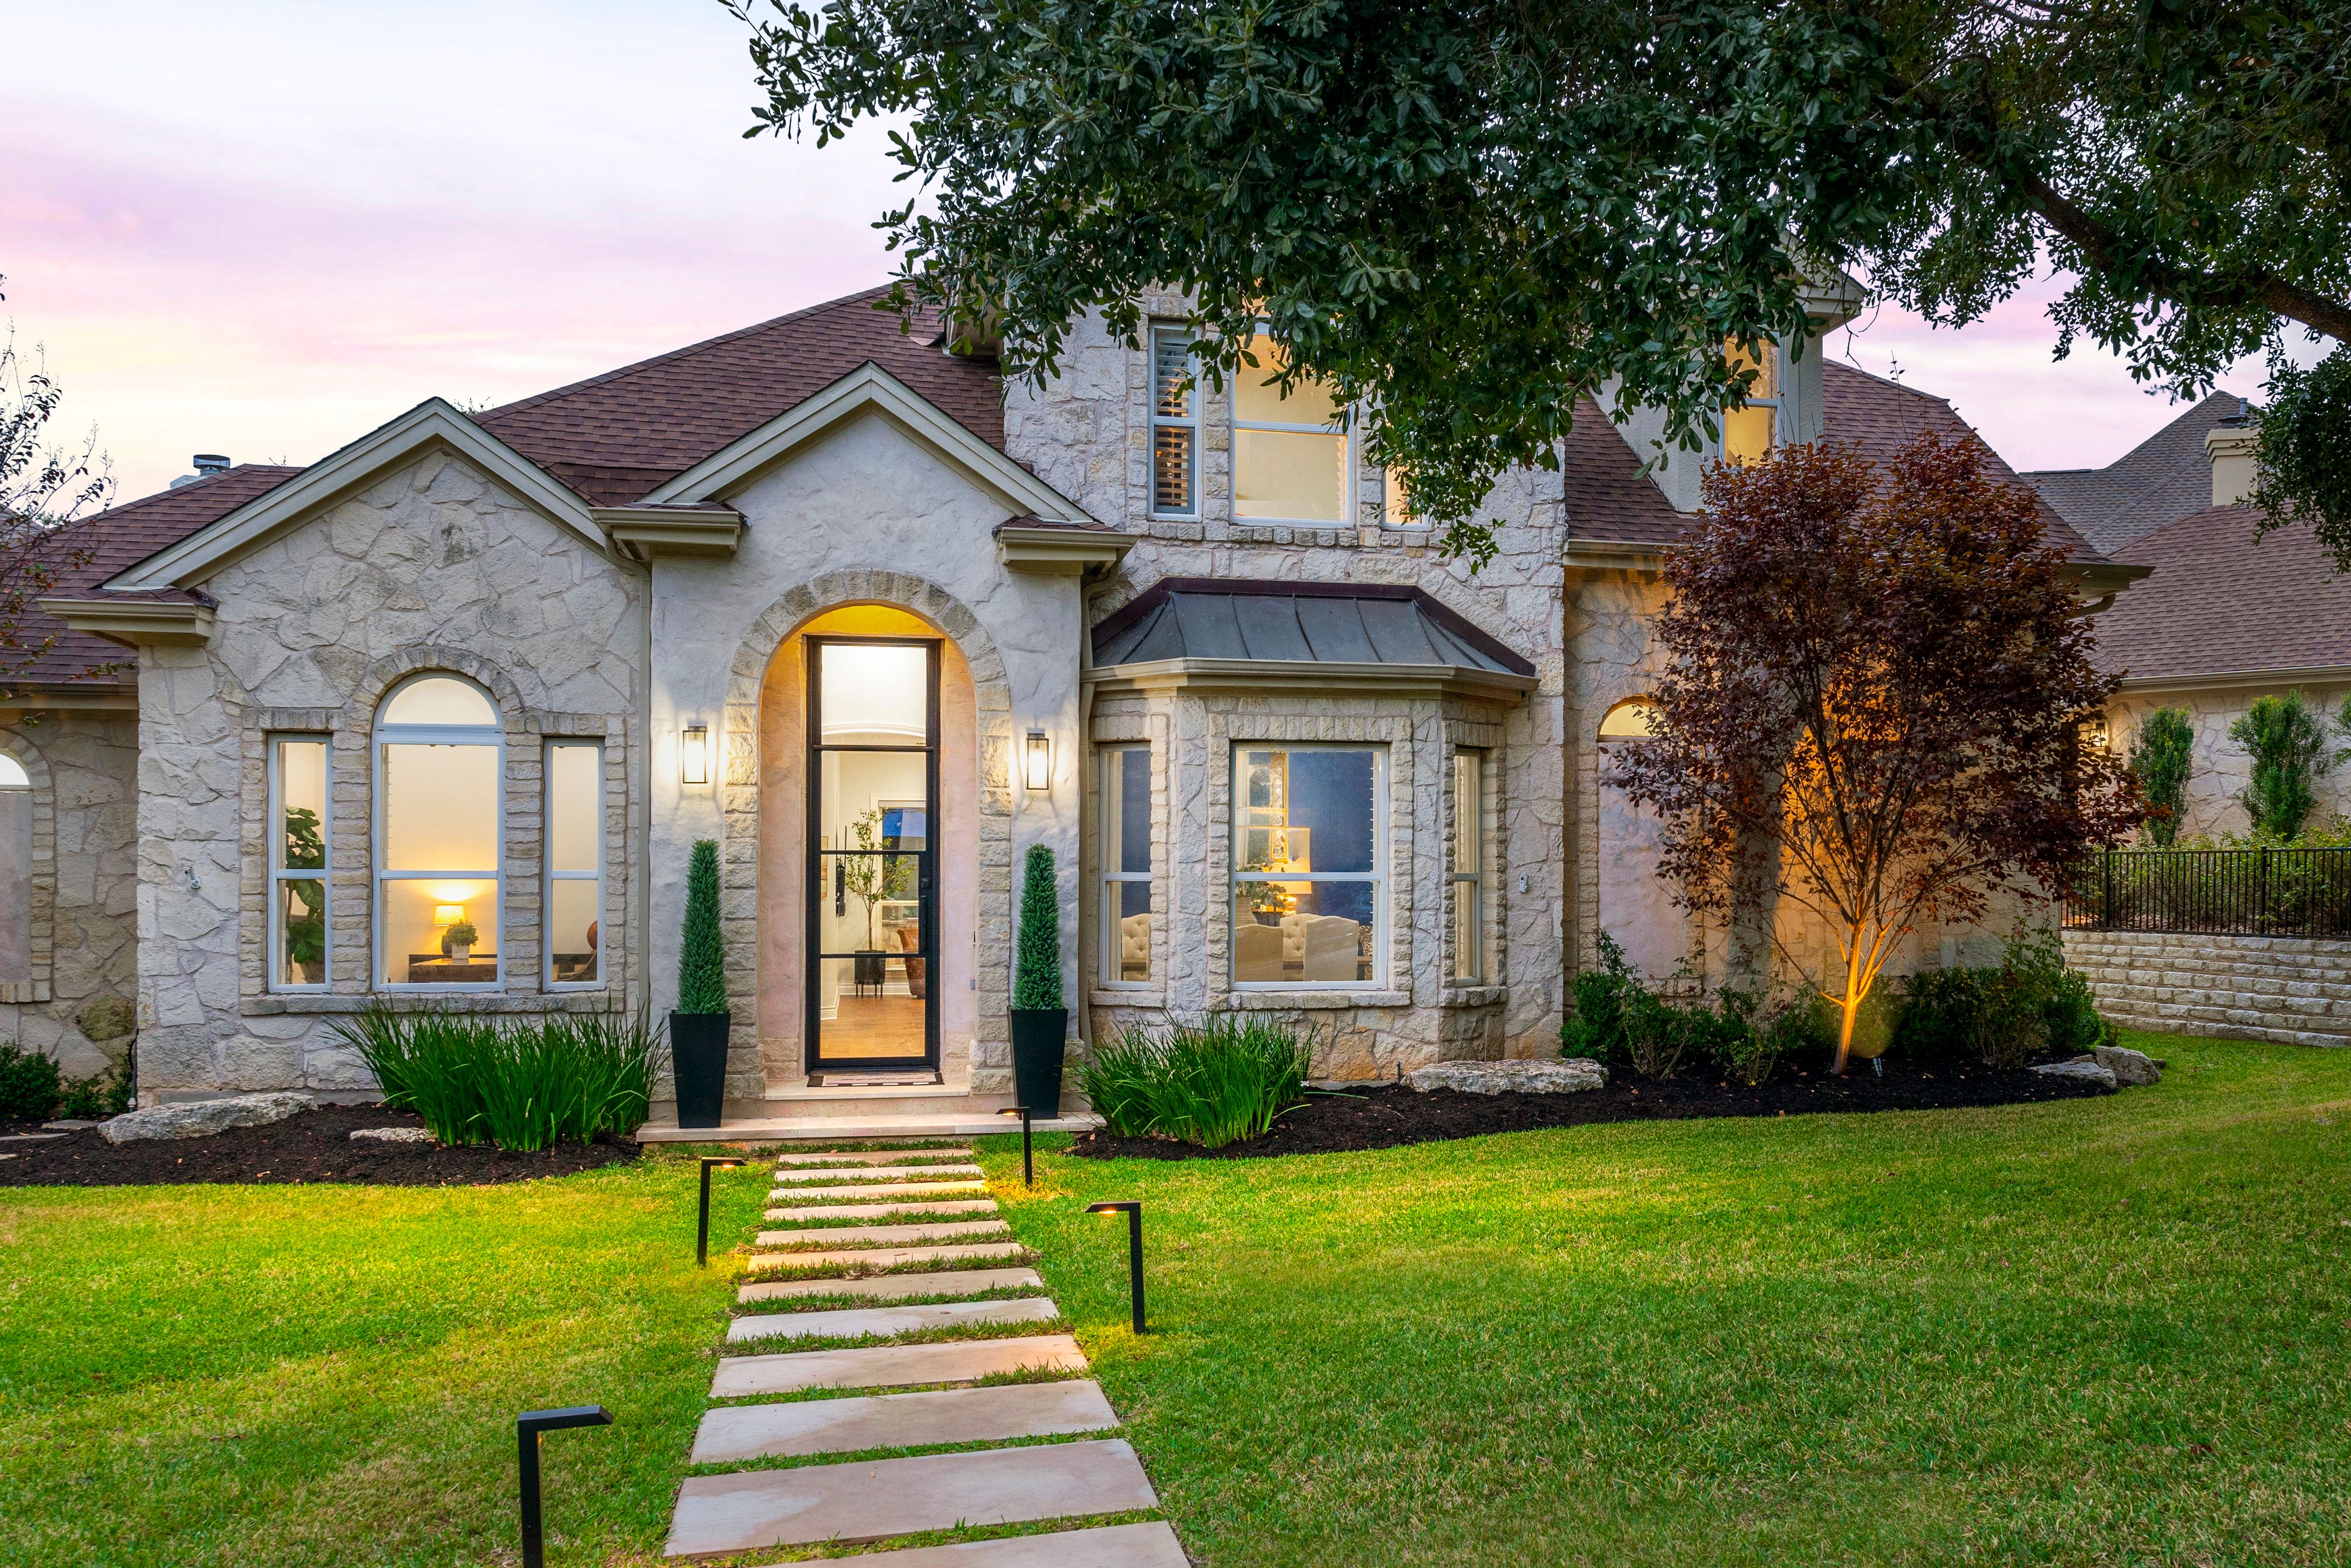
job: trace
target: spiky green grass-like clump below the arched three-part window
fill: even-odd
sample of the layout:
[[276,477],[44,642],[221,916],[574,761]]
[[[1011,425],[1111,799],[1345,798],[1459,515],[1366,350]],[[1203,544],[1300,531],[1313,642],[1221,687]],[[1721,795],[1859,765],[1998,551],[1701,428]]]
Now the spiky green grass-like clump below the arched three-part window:
[[661,1074],[661,1032],[637,1013],[477,1018],[376,1001],[334,1032],[437,1143],[536,1152],[644,1124]]

